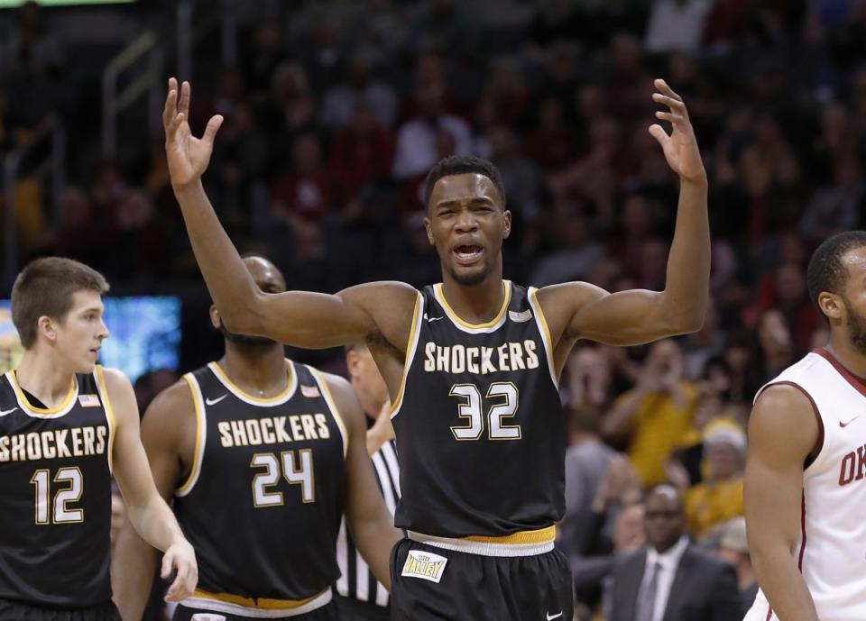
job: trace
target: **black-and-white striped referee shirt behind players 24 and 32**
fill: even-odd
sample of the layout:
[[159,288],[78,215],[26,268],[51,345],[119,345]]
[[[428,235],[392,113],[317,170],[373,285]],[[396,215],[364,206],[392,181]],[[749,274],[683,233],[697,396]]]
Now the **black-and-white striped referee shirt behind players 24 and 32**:
[[[385,506],[394,515],[397,501],[400,500],[400,470],[397,466],[397,444],[393,440],[382,444],[373,453],[373,470],[379,482],[379,489],[385,499]],[[345,528],[345,516],[340,523],[340,534],[336,538],[336,562],[341,576],[336,581],[336,592],[345,598],[369,602],[376,606],[388,606],[388,591],[376,580],[373,571],[355,547],[352,536]]]

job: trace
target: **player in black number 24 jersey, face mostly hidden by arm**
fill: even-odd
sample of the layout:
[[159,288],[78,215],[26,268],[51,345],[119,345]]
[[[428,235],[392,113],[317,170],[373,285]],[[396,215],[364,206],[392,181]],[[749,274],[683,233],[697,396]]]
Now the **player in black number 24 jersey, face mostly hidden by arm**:
[[[258,288],[286,290],[271,261],[244,258]],[[390,586],[402,534],[376,487],[364,413],[349,383],[287,361],[280,343],[230,333],[222,359],[157,396],[142,437],[163,498],[198,553],[199,581],[174,618],[336,618],[336,538],[347,524]],[[153,551],[125,528],[115,553],[118,606],[140,619]]]

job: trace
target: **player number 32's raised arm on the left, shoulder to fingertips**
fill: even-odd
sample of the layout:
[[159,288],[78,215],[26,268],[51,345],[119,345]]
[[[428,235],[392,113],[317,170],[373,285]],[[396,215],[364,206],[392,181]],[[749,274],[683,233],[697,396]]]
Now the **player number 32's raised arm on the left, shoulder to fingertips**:
[[[311,349],[361,342],[379,333],[394,347],[405,347],[415,304],[415,292],[408,285],[373,283],[336,296],[302,291],[267,294],[255,286],[201,185],[223,117],[211,118],[202,137],[195,137],[189,130],[189,97],[188,82],[179,87],[175,78],[169,80],[162,113],[166,158],[192,250],[226,328]],[[392,309],[408,321],[390,324],[374,311],[382,300],[389,300]]]

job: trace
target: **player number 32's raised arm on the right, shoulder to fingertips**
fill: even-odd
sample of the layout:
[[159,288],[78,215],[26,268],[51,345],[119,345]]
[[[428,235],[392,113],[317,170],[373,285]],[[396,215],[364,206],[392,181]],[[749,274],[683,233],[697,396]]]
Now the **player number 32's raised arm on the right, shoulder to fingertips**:
[[659,142],[680,183],[665,290],[609,294],[586,283],[544,288],[539,301],[548,315],[554,342],[564,337],[631,345],[695,332],[704,324],[710,282],[706,171],[682,97],[664,80],[657,79],[655,86],[659,92],[652,96],[653,101],[668,106],[667,112],[659,111],[656,116],[671,123],[673,133],[668,136],[654,124],[650,134]]

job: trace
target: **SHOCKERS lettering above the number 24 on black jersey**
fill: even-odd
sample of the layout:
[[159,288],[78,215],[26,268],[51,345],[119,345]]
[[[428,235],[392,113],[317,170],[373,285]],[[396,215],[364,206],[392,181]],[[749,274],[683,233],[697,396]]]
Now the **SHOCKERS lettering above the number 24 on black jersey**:
[[324,414],[296,414],[292,416],[263,416],[217,424],[219,443],[225,448],[233,446],[261,446],[301,440],[327,440],[331,437]]

